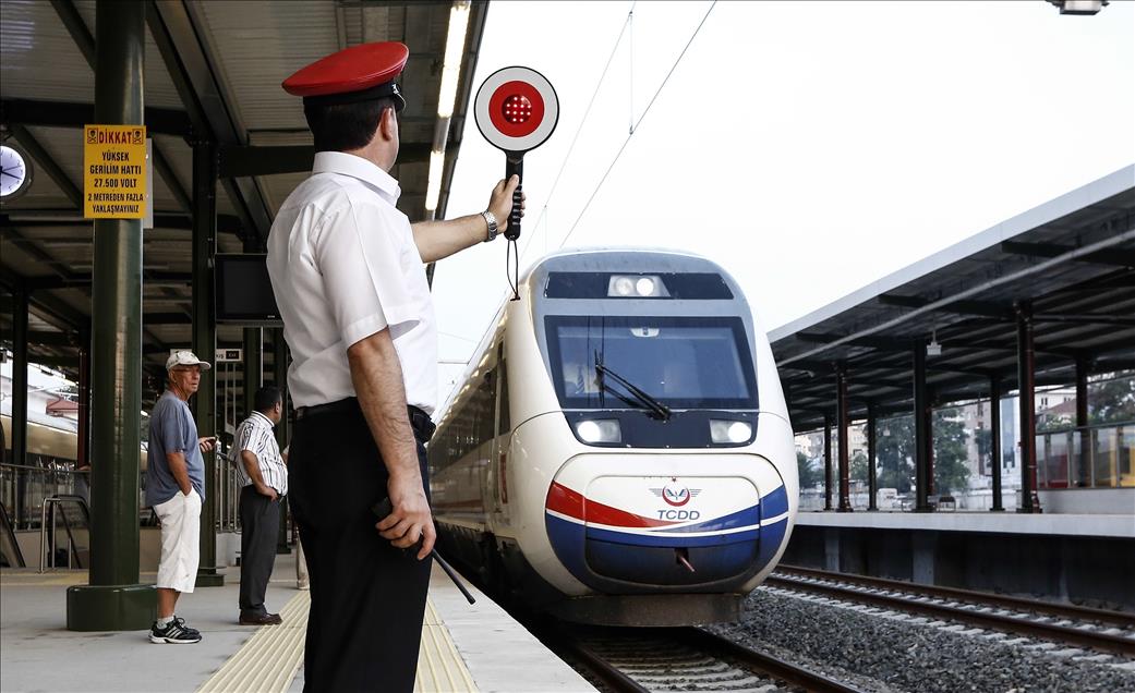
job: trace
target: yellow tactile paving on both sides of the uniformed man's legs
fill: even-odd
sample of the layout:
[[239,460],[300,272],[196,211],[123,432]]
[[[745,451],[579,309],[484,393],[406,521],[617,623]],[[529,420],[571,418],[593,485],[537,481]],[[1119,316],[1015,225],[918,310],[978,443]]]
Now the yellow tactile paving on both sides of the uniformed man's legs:
[[[280,611],[284,623],[266,626],[245,642],[197,693],[284,693],[303,661],[308,631],[308,592],[300,592]],[[477,686],[431,601],[426,602],[418,653],[417,693],[476,693]]]

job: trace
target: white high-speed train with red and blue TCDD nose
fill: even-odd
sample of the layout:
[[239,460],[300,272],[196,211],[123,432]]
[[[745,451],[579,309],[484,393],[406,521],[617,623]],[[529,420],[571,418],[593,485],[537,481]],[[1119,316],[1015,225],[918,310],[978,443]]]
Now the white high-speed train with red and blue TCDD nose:
[[585,623],[731,620],[796,518],[765,332],[703,257],[550,255],[474,353],[428,446],[443,552]]

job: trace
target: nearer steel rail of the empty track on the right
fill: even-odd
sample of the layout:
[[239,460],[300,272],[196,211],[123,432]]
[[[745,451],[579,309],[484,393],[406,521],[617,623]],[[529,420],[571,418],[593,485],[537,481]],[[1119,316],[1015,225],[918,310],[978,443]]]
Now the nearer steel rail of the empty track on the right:
[[914,593],[909,593],[909,597],[886,597],[883,594],[864,592],[852,588],[804,582],[800,580],[776,577],[775,575],[765,580],[765,584],[780,586],[787,590],[815,592],[844,601],[869,603],[885,609],[913,611],[916,614],[933,616],[935,618],[970,623],[983,628],[1008,631],[1010,633],[1022,635],[1056,640],[1058,642],[1083,645],[1104,652],[1123,654],[1125,657],[1135,657],[1135,640],[1130,637],[1085,631],[1069,626],[1059,626],[1056,624],[1040,623],[1018,616],[1000,616],[989,612],[983,614],[981,611],[961,609],[958,607],[916,601],[916,594]]

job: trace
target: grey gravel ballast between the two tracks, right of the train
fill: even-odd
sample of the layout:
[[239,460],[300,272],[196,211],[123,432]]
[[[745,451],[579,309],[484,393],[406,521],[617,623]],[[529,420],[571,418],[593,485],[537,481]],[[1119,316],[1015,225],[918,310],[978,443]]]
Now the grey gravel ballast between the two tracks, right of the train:
[[767,588],[740,623],[708,629],[867,691],[1135,693],[1135,662],[1120,657]]

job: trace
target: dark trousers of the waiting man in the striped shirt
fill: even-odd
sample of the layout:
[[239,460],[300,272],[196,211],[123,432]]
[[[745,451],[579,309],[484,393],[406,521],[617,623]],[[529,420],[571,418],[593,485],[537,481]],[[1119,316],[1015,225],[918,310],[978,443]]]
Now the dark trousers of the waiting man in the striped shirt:
[[241,614],[263,616],[264,591],[276,565],[276,540],[280,531],[280,504],[257,492],[241,489]]

